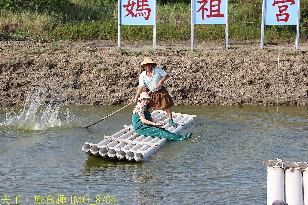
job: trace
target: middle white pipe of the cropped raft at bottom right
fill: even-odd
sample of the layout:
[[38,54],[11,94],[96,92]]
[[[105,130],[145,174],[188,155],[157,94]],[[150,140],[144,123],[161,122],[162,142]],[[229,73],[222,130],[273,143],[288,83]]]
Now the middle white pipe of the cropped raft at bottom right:
[[286,170],[286,203],[303,205],[302,171],[289,168]]

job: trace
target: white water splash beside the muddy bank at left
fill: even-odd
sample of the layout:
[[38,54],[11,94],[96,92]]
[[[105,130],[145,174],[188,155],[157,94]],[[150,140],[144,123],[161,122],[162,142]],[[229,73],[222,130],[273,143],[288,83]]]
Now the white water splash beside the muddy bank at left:
[[[39,102],[39,96],[40,93],[37,93],[35,97],[28,95],[25,105],[18,114],[12,116],[12,114],[6,112],[6,121],[0,122],[0,126],[26,130],[46,130],[49,127],[64,127],[65,125],[70,124],[68,112],[66,113],[63,122],[61,122],[59,118],[61,105],[42,105]],[[26,110],[30,99],[30,107]],[[45,111],[44,107],[46,107]]]

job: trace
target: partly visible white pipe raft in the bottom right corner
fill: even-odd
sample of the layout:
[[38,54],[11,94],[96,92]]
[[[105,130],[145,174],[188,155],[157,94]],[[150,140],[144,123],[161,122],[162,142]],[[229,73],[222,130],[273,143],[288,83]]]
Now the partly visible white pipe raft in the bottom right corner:
[[308,204],[308,164],[264,160],[267,165],[267,205],[276,200],[288,205]]

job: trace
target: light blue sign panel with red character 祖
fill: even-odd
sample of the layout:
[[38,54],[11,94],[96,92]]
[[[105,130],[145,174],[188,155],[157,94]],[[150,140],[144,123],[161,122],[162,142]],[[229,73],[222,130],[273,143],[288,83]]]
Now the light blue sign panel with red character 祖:
[[193,0],[194,24],[226,24],[226,0]]

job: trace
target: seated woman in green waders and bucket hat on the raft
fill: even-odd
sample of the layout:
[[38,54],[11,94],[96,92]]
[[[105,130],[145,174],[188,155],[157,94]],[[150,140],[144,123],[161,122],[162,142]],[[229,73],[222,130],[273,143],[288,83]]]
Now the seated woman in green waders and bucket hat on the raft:
[[151,113],[148,110],[148,103],[152,100],[148,92],[142,92],[137,99],[137,105],[134,108],[132,116],[132,127],[138,135],[166,138],[171,141],[182,141],[188,139],[192,134],[175,134],[161,128],[163,123],[153,122]]

